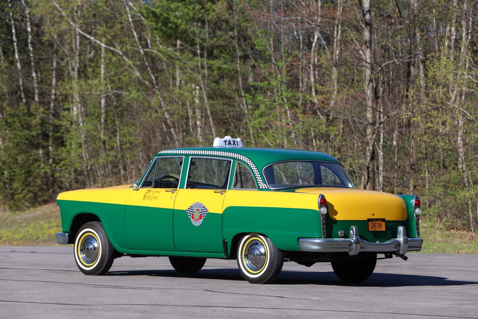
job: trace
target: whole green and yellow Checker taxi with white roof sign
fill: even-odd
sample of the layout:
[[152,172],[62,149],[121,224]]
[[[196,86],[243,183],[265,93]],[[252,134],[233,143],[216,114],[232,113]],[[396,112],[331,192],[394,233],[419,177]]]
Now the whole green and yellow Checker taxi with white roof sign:
[[373,272],[377,254],[406,260],[419,251],[420,199],[358,189],[327,154],[214,146],[155,154],[140,181],[57,197],[63,232],[86,275],[115,258],[168,256],[196,273],[206,258],[236,259],[250,283],[271,283],[284,261],[330,262],[345,282]]

